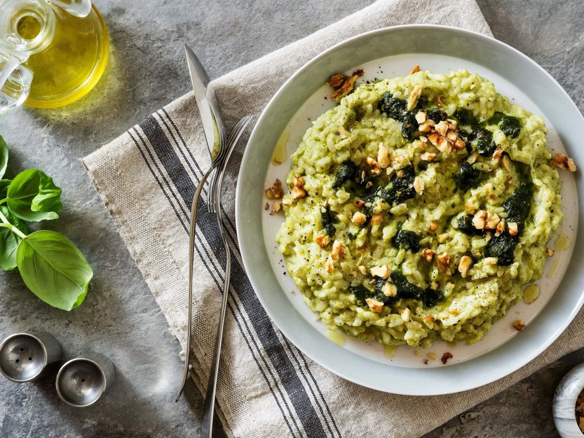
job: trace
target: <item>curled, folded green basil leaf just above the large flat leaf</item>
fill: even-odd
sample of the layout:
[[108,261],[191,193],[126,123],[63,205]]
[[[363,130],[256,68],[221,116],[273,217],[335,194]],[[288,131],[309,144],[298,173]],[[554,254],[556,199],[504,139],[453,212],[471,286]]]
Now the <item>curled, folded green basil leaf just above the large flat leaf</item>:
[[53,178],[29,169],[16,175],[8,186],[6,204],[13,215],[25,221],[57,219],[62,208],[61,192]]

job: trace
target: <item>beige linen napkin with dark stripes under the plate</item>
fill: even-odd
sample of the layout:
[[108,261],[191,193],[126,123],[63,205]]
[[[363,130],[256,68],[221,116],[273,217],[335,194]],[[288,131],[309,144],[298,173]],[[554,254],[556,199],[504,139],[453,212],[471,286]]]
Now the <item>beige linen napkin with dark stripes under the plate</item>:
[[[258,116],[294,71],[333,44],[368,30],[409,23],[491,34],[474,0],[381,0],[213,82],[227,127]],[[234,105],[234,103],[236,105]],[[325,370],[267,317],[249,284],[235,234],[235,184],[249,133],[231,159],[223,188],[224,225],[234,248],[218,415],[230,437],[417,437],[582,346],[580,312],[559,342],[522,369],[453,397],[406,397],[369,390]],[[155,112],[84,159],[93,183],[140,268],[172,333],[185,346],[190,206],[208,168],[191,93]],[[262,187],[263,188],[263,187]],[[204,190],[206,194],[206,190]],[[194,266],[192,376],[204,394],[223,284],[225,253],[201,198]],[[428,415],[430,409],[432,415]],[[439,406],[439,409],[436,407]]]

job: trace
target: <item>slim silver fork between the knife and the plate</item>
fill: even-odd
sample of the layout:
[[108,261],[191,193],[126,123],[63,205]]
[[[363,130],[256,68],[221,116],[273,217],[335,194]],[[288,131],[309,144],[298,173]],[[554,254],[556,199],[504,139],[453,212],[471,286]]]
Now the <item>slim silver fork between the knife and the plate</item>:
[[231,154],[235,149],[235,145],[244,132],[246,126],[251,121],[252,116],[245,116],[239,120],[237,126],[231,132],[230,138],[227,140],[228,150],[227,155],[221,165],[221,171],[218,171],[217,180],[217,194],[214,202],[215,214],[217,214],[217,223],[219,224],[219,231],[221,238],[223,238],[223,245],[225,245],[225,257],[227,265],[225,266],[225,283],[223,287],[223,299],[221,301],[221,312],[219,315],[219,326],[217,328],[217,336],[215,337],[215,350],[213,352],[213,361],[211,362],[211,373],[209,374],[209,382],[207,385],[207,394],[205,396],[205,404],[203,406],[203,419],[201,420],[201,438],[210,438],[213,436],[213,412],[215,410],[215,392],[217,390],[217,377],[219,373],[219,362],[221,359],[221,344],[223,341],[223,330],[225,326],[225,314],[227,311],[227,298],[229,296],[229,287],[231,280],[231,250],[227,240],[227,234],[223,229],[223,221],[221,220],[221,185],[223,185],[223,176]]

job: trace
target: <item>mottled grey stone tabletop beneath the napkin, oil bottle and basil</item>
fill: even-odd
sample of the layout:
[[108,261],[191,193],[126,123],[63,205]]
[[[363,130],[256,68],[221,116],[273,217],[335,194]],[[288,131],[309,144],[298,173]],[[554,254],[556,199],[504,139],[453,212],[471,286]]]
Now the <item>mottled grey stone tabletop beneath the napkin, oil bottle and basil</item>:
[[[98,1],[112,52],[95,90],[64,109],[22,108],[0,119],[0,133],[11,147],[9,172],[41,168],[63,188],[61,218],[43,227],[78,244],[95,280],[85,303],[63,312],[37,300],[18,273],[0,274],[0,335],[47,329],[63,343],[66,359],[86,349],[105,353],[117,364],[118,378],[102,402],[82,410],[58,400],[53,378],[21,385],[0,380],[0,436],[197,436],[201,395],[190,385],[186,397],[173,402],[182,371],[179,344],[78,158],[189,90],[183,41],[217,77],[368,3]],[[479,0],[479,5],[495,36],[547,68],[583,110],[584,3]],[[555,385],[583,360],[584,350],[569,354],[426,438],[555,437]]]

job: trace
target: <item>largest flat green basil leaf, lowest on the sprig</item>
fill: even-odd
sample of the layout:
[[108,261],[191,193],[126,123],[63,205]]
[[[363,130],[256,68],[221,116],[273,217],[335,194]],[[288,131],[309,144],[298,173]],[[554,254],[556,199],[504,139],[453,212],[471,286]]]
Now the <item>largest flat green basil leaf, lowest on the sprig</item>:
[[16,265],[37,297],[62,310],[72,310],[85,300],[93,277],[77,246],[55,231],[36,231],[21,241]]

